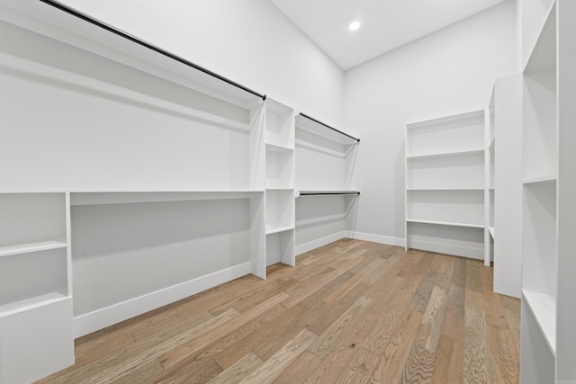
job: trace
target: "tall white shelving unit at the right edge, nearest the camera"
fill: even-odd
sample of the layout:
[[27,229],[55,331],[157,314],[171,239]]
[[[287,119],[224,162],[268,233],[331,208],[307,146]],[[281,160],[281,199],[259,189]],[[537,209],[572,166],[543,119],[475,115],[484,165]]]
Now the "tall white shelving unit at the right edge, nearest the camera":
[[574,16],[552,2],[523,74],[523,383],[576,380]]

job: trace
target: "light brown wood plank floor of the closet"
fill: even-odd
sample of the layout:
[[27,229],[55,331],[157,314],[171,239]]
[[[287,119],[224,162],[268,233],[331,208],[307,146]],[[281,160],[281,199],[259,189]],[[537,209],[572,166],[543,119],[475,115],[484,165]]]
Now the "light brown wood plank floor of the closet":
[[343,239],[76,340],[42,383],[517,383],[480,261]]

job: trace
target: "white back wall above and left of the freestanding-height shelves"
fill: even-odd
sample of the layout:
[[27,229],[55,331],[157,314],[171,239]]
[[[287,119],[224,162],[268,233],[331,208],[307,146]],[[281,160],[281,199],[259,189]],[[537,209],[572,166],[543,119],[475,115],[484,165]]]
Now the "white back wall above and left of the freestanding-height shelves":
[[404,242],[404,129],[488,105],[517,68],[516,7],[497,5],[345,73],[345,126],[362,139],[357,237]]

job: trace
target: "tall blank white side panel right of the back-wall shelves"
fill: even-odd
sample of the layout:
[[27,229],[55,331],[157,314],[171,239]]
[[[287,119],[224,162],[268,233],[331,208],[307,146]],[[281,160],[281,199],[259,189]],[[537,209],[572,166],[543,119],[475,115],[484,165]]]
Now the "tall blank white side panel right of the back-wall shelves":
[[[487,156],[487,226],[492,237],[494,291],[519,298],[522,277],[522,75],[501,77],[494,83],[491,134]],[[496,142],[498,141],[498,146]],[[498,147],[498,150],[496,149]],[[494,237],[498,232],[499,237]]]

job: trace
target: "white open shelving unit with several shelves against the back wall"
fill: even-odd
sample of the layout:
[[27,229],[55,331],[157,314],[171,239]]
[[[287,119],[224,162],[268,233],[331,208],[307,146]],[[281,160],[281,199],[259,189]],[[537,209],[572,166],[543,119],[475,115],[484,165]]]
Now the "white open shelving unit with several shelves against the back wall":
[[407,124],[407,250],[485,258],[484,121],[481,110]]

